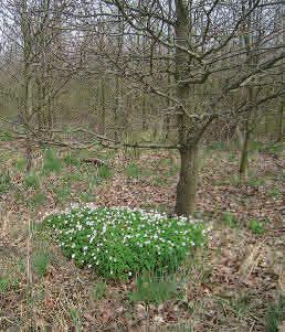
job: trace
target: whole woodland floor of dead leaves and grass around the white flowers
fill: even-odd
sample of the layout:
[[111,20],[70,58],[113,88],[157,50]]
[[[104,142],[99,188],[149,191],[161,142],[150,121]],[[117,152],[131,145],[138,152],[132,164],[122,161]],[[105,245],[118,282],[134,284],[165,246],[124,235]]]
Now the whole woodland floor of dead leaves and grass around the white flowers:
[[[21,144],[0,142],[0,331],[284,331],[281,146],[251,147],[246,183],[236,176],[234,148],[203,149],[196,216],[213,229],[208,246],[175,276],[177,292],[157,304],[129,300],[136,280],[102,280],[76,268],[36,225],[45,213],[74,202],[172,212],[177,156],[133,150],[49,156],[27,176]],[[80,161],[92,157],[109,168]]]

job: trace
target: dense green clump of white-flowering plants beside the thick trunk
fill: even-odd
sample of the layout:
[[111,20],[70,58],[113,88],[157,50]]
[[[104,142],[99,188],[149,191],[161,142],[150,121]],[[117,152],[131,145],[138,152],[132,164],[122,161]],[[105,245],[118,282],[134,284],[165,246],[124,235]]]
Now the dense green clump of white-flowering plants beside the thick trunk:
[[76,265],[112,279],[142,270],[173,271],[205,242],[201,221],[128,207],[77,206],[48,216],[45,223]]

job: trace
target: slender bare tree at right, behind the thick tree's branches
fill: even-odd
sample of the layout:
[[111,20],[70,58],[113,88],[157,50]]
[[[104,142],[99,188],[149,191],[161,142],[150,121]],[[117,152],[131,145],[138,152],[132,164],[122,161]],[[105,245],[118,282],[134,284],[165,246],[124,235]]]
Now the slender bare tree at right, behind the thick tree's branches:
[[[242,11],[245,14],[246,11],[251,10],[252,6],[254,4],[253,1],[244,1],[242,3]],[[260,63],[260,49],[264,46],[266,43],[266,38],[270,36],[271,43],[273,46],[278,47],[281,46],[279,43],[279,34],[277,33],[278,30],[281,31],[281,26],[276,26],[276,22],[264,20],[266,14],[268,13],[268,9],[265,7],[258,7],[253,12],[252,15],[247,17],[242,24],[241,31],[241,42],[242,47],[245,49],[245,54],[243,57],[245,58],[245,65],[249,67],[249,72],[251,69],[256,69],[257,64]],[[281,18],[278,18],[278,11],[274,14],[277,14],[277,22],[281,24]],[[277,24],[277,25],[278,25]],[[274,34],[277,33],[275,36]],[[266,45],[266,44],[265,44]],[[262,55],[263,56],[263,55]],[[249,110],[245,115],[243,115],[242,120],[244,125],[244,138],[242,142],[242,151],[241,151],[241,161],[240,161],[240,178],[242,181],[247,179],[247,169],[249,169],[249,143],[251,140],[251,136],[253,135],[257,124],[258,118],[263,116],[262,108],[255,106],[255,101],[258,98],[260,93],[264,93],[264,88],[268,85],[273,86],[273,89],[278,89],[278,81],[281,76],[281,68],[278,67],[277,71],[271,69],[267,73],[267,76],[271,76],[270,79],[263,79],[262,83],[256,82],[247,82],[241,87],[241,93],[244,95],[244,98],[247,100],[249,105],[252,105],[252,109]],[[277,88],[276,88],[277,86]]]

